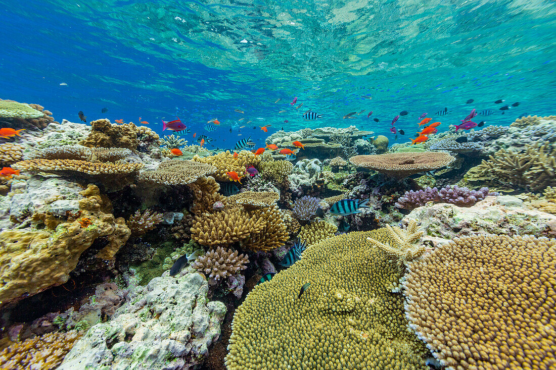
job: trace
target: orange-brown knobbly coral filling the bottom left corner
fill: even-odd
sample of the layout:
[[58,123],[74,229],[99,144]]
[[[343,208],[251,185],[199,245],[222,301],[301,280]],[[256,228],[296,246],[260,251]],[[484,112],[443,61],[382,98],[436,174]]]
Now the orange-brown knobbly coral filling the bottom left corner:
[[78,331],[53,332],[13,343],[0,351],[0,368],[55,369],[82,335]]

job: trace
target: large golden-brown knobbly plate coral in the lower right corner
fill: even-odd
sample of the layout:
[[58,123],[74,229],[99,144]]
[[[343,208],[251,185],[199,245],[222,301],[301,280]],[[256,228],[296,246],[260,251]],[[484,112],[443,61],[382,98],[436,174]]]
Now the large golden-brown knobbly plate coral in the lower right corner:
[[[556,240],[473,236],[409,264],[410,327],[449,369],[556,365]],[[276,277],[275,277],[276,278]]]

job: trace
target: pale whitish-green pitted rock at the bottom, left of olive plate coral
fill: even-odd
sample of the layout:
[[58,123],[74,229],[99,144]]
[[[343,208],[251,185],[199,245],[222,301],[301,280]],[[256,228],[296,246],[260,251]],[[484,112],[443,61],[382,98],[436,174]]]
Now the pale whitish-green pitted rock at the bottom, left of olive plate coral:
[[136,287],[111,321],[93,326],[58,370],[190,369],[220,336],[224,303],[208,302],[198,273],[156,277]]

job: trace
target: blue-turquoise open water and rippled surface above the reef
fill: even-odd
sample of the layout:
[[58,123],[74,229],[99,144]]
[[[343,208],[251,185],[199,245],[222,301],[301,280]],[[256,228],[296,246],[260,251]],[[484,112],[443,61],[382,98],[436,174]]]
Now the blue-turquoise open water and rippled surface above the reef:
[[[355,124],[393,138],[391,119],[403,110],[409,114],[396,127],[411,132],[424,112],[441,118],[444,131],[472,108],[493,109],[478,118],[504,125],[555,111],[551,1],[0,4],[0,98],[41,104],[58,121],[78,122],[78,111],[89,120],[142,117],[162,134],[161,119],[177,113],[191,134],[231,147],[282,127]],[[452,113],[436,117],[444,107]],[[307,109],[324,119],[303,120]],[[202,128],[212,118],[221,122],[216,133]],[[269,133],[260,131],[264,124]]]

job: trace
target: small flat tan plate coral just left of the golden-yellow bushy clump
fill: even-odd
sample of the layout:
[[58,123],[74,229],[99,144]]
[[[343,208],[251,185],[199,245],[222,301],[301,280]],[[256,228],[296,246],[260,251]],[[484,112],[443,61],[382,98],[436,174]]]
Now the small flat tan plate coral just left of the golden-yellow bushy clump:
[[141,172],[137,180],[163,185],[186,185],[214,172],[216,167],[207,163],[170,159],[160,163],[155,171]]

